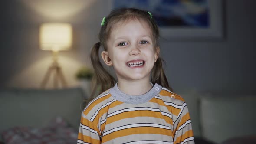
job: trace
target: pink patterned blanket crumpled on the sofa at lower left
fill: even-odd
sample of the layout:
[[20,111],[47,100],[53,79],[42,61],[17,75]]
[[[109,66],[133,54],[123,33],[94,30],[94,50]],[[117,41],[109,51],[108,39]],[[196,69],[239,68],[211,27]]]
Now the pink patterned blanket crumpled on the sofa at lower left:
[[76,144],[77,139],[77,131],[61,117],[44,128],[15,127],[1,135],[5,144]]

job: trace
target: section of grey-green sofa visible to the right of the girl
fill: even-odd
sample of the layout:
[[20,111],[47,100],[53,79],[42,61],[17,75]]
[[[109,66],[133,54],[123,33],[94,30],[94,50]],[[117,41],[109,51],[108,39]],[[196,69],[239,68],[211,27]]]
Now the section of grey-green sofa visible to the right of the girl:
[[177,93],[187,102],[196,144],[256,144],[256,95]]

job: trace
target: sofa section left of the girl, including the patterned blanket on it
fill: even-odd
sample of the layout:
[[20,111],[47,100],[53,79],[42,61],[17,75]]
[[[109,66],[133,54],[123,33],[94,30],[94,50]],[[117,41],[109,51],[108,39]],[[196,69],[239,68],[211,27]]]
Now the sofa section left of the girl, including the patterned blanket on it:
[[84,99],[81,88],[1,90],[0,141],[76,144]]

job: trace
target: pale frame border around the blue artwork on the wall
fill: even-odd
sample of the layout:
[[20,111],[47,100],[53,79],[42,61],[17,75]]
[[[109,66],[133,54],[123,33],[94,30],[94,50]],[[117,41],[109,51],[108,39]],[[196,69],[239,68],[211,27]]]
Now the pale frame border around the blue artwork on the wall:
[[[112,1],[112,10],[116,7]],[[118,0],[119,1],[122,0]],[[139,1],[139,0],[137,0]],[[133,6],[134,3],[134,6]],[[167,41],[211,41],[223,39],[223,0],[207,0],[209,10],[209,26],[207,27],[191,27],[191,26],[159,26],[160,37]],[[138,5],[138,4],[137,4]],[[129,1],[127,7],[136,6],[136,0]],[[144,8],[146,9],[146,8]],[[153,14],[154,17],[154,14]]]

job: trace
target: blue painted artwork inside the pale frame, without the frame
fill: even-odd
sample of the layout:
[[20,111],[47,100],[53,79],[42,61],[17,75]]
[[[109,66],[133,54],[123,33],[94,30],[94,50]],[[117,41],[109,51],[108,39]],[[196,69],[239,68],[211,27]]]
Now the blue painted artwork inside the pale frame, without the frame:
[[159,26],[209,27],[208,0],[115,0],[114,7],[147,10]]

